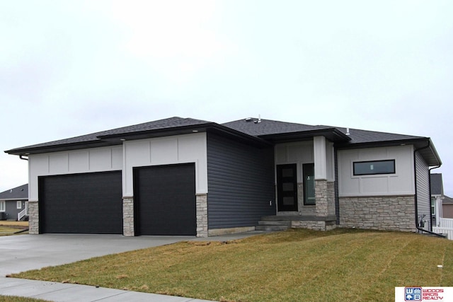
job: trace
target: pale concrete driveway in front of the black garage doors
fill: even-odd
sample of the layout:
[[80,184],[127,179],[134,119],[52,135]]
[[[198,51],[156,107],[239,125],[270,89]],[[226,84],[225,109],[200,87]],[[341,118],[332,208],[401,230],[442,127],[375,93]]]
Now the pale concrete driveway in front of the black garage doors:
[[71,234],[1,236],[0,277],[91,257],[196,239],[190,236],[124,237]]

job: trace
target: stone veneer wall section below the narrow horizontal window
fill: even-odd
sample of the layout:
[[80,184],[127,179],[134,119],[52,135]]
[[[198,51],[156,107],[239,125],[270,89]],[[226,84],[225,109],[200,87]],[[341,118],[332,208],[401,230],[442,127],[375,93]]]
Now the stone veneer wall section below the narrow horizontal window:
[[340,226],[415,231],[414,196],[340,197]]

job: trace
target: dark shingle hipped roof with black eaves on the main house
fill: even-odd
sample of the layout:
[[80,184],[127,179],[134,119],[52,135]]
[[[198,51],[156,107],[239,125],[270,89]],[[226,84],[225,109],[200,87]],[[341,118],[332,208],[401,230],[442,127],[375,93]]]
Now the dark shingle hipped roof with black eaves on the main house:
[[45,153],[64,151],[69,149],[93,148],[96,146],[110,146],[122,144],[120,139],[142,139],[147,137],[164,137],[175,134],[187,134],[190,130],[222,132],[233,135],[239,139],[256,144],[276,144],[285,141],[300,141],[311,139],[315,136],[324,136],[336,143],[339,149],[357,148],[369,146],[396,146],[398,144],[413,144],[416,149],[429,144],[429,148],[420,150],[423,158],[429,165],[440,165],[441,161],[435,151],[435,147],[427,137],[414,137],[411,135],[392,134],[386,132],[374,132],[360,129],[347,129],[292,122],[279,122],[274,120],[262,120],[249,118],[216,124],[205,120],[191,118],[170,117],[164,120],[135,124],[132,126],[111,129],[103,132],[71,137],[58,141],[50,141],[44,144],[26,146],[18,149],[5,151],[16,155],[28,155],[29,153]]

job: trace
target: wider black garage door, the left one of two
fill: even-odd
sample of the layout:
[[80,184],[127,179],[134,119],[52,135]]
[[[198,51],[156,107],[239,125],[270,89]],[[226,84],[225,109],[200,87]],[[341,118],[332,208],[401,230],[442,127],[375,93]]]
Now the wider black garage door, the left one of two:
[[121,172],[39,178],[40,233],[122,234]]

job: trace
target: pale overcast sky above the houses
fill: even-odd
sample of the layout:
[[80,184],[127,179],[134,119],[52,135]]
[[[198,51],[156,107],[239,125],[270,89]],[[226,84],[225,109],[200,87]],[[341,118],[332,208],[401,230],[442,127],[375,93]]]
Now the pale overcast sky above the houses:
[[[166,117],[431,137],[453,196],[453,1],[0,0],[1,151]],[[28,182],[0,154],[0,192]]]

